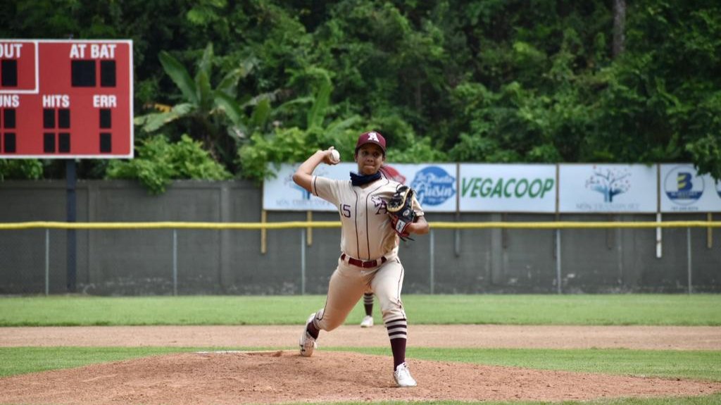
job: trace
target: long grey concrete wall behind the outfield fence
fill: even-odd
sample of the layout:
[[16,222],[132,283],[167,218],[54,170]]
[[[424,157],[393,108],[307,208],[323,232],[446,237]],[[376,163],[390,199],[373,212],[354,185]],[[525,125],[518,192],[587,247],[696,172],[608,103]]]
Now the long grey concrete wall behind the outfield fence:
[[[260,222],[262,192],[249,182],[175,182],[151,196],[134,182],[79,182],[77,221]],[[0,222],[65,221],[64,181],[0,182]],[[336,221],[336,213],[314,213]],[[554,215],[466,213],[459,221],[554,221]],[[706,214],[665,215],[705,221]],[[270,212],[267,221],[305,221],[306,213]],[[654,221],[653,215],[561,215],[560,221]],[[428,213],[428,221],[456,214]],[[76,290],[94,295],[322,294],[340,254],[340,229],[178,230],[177,282],[173,231],[76,231]],[[684,293],[689,285],[686,228],[561,231],[563,293]],[[0,231],[0,294],[44,293],[46,237],[50,293],[67,291],[68,231]],[[691,229],[694,292],[721,291],[721,230]],[[709,248],[709,236],[712,246]],[[433,240],[433,245],[431,244]],[[436,229],[433,238],[402,242],[405,293],[557,293],[554,230]],[[431,252],[433,251],[433,252]],[[305,266],[301,257],[305,257]],[[431,258],[433,257],[433,263]],[[305,280],[301,272],[305,270]]]

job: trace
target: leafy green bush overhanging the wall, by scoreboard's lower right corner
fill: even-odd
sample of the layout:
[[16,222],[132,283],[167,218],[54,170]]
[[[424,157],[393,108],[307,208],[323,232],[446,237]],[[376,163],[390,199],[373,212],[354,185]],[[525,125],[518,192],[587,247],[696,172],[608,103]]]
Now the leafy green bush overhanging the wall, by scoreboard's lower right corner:
[[137,148],[136,158],[112,161],[107,179],[138,179],[151,194],[161,194],[173,179],[225,180],[232,176],[214,161],[198,141],[182,135],[169,143],[164,135],[148,138]]

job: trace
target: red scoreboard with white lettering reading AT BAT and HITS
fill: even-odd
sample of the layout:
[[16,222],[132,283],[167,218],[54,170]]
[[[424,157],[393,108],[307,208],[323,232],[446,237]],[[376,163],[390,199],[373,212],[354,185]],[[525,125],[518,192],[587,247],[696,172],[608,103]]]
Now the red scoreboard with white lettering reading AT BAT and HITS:
[[0,159],[132,157],[132,41],[0,40]]

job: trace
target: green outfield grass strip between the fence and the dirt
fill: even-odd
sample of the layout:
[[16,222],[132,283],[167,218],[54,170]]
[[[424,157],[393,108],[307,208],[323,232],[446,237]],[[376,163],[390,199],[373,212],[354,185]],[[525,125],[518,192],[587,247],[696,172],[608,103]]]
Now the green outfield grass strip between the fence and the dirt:
[[[0,326],[302,324],[324,295],[0,298]],[[404,295],[413,324],[721,326],[721,295]],[[350,319],[359,319],[362,302]],[[376,313],[378,311],[376,305]]]

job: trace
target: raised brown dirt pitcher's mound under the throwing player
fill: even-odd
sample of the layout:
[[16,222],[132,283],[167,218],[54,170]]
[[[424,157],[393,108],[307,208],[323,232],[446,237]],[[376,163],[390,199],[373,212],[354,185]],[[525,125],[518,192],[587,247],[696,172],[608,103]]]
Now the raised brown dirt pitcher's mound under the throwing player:
[[721,383],[410,360],[415,388],[396,388],[390,357],[317,351],[144,357],[0,378],[0,403],[245,404],[503,401],[697,396]]

